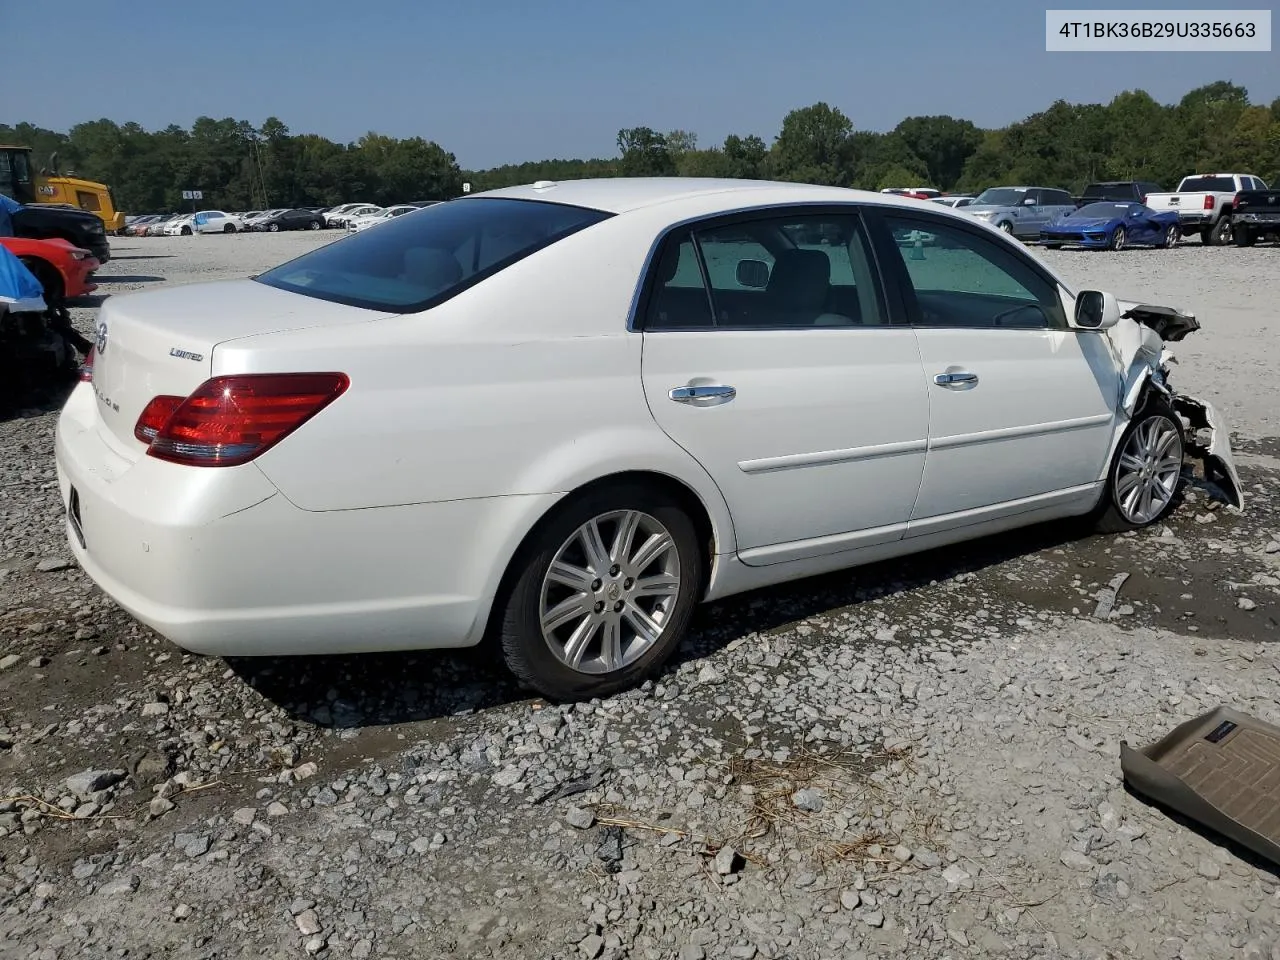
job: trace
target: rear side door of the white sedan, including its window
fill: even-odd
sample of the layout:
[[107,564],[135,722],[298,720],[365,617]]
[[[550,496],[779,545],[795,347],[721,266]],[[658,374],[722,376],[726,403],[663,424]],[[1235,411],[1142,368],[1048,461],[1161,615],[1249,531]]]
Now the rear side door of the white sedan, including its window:
[[902,538],[929,398],[855,207],[681,228],[645,291],[645,397],[723,493],[744,562]]

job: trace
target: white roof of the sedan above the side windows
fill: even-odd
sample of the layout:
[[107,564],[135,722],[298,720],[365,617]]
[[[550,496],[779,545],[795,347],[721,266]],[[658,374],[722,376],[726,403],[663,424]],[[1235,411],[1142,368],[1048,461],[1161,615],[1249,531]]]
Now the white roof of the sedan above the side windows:
[[765,204],[879,204],[919,210],[920,201],[845,187],[819,187],[810,183],[785,183],[780,180],[745,180],[701,177],[602,177],[582,180],[539,180],[518,187],[470,193],[458,201],[481,197],[511,200],[544,200],[571,206],[623,214],[658,204],[705,200],[719,197],[724,210]]

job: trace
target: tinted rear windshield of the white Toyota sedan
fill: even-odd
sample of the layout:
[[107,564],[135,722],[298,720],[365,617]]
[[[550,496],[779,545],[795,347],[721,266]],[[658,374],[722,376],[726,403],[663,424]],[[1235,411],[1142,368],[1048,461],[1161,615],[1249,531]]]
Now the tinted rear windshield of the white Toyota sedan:
[[411,314],[609,216],[535,200],[434,204],[303,253],[256,279],[317,300]]

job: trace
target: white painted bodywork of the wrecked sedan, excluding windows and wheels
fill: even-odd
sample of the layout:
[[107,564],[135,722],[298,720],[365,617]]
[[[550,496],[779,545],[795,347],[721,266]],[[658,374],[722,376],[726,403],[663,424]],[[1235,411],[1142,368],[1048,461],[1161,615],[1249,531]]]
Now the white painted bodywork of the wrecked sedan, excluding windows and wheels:
[[[1132,320],[1106,333],[628,323],[672,224],[797,204],[915,212],[918,200],[696,179],[484,196],[618,215],[421,314],[253,280],[110,298],[93,383],[73,392],[56,435],[59,489],[65,504],[74,485],[84,534],[69,524],[70,549],[93,580],[201,653],[468,645],[539,520],[586,484],[639,471],[705,511],[714,599],[1088,511],[1128,422],[1129,374],[1161,364]],[[952,366],[979,385],[934,385]],[[351,388],[250,463],[178,466],[133,436],[156,394],[289,371],[342,371]],[[691,378],[739,394],[672,402]]]

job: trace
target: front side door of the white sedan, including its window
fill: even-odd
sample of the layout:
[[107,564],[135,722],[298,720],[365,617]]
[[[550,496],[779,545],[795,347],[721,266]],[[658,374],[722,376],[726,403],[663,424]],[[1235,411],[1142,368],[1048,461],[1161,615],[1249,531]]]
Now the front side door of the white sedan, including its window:
[[[931,399],[908,536],[1088,495],[1120,403],[1107,338],[1070,329],[1052,276],[980,228],[896,210],[876,225]],[[918,230],[933,243],[904,256]]]

